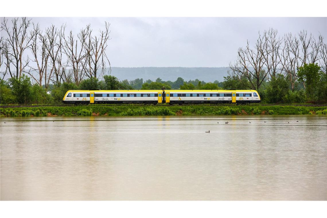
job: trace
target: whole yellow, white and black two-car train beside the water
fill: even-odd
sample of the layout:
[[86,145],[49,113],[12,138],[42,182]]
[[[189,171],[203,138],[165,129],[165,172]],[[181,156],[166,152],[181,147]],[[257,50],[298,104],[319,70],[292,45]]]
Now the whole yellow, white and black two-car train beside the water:
[[255,90],[68,90],[66,104],[258,103]]

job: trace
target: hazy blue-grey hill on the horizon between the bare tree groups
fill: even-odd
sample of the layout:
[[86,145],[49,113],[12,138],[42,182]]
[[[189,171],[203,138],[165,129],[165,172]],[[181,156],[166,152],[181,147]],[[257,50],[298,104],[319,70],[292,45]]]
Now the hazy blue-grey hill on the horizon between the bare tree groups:
[[143,78],[155,81],[160,77],[164,81],[175,81],[182,77],[185,81],[199,79],[213,82],[223,81],[228,69],[228,67],[112,67],[111,75],[120,80]]

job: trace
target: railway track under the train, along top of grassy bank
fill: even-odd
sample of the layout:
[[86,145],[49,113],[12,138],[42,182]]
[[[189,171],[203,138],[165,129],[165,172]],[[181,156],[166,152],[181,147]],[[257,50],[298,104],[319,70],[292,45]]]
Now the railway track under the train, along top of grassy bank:
[[[98,106],[104,106],[104,107],[111,107],[111,106],[121,106],[121,105],[126,105],[126,104],[107,104],[103,105],[100,104]],[[133,105],[144,105],[144,104],[133,104]],[[182,106],[194,106],[194,105],[212,105],[212,106],[232,106],[235,104],[183,104]],[[304,104],[299,104],[299,105],[292,105],[292,104],[283,104],[283,105],[273,105],[273,104],[248,104],[251,106],[307,106],[307,107],[325,107],[327,104],[319,104],[319,105],[304,105]],[[0,106],[0,108],[37,108],[37,107],[68,107],[68,106],[76,106],[76,105],[4,105]],[[176,105],[168,105],[168,104],[159,104],[156,106],[164,106],[164,107],[170,107],[170,106],[179,106],[178,104]]]

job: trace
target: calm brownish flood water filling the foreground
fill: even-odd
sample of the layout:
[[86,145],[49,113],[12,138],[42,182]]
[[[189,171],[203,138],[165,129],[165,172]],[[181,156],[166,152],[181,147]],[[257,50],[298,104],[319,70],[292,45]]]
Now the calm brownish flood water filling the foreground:
[[1,118],[0,130],[1,200],[327,200],[327,116]]

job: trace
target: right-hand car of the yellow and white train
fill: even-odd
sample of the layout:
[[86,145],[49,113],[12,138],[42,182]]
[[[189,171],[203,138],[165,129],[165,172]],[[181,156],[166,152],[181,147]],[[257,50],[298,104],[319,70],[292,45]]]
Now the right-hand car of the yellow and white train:
[[248,104],[261,101],[255,90],[166,90],[165,98],[165,102],[170,104]]

